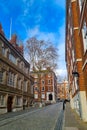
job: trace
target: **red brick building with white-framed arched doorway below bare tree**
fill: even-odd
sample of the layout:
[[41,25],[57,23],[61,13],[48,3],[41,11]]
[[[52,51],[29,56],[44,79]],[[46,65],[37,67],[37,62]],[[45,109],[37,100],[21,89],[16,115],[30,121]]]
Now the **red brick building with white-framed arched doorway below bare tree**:
[[57,77],[53,71],[32,72],[35,102],[54,103],[57,99]]

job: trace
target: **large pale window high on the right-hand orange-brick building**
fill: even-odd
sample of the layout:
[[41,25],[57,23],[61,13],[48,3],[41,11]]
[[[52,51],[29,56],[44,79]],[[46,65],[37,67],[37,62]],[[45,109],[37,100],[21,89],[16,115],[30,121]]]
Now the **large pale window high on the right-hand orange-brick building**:
[[87,50],[87,27],[86,27],[85,22],[84,22],[84,25],[82,28],[82,37],[83,37],[84,52],[86,52],[86,50]]

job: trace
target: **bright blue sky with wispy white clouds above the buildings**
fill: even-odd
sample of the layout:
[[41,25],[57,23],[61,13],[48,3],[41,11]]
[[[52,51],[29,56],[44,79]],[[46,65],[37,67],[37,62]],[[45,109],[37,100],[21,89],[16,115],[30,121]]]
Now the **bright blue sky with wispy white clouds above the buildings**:
[[0,0],[0,23],[5,36],[16,33],[22,41],[32,36],[50,40],[59,49],[59,75],[65,67],[65,0]]

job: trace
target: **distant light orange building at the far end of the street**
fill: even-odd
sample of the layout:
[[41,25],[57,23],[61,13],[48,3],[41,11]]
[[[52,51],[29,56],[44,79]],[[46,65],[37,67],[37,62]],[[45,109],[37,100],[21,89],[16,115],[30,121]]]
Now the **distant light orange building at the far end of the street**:
[[57,83],[57,99],[58,100],[69,100],[69,88],[68,81],[64,80],[61,83]]

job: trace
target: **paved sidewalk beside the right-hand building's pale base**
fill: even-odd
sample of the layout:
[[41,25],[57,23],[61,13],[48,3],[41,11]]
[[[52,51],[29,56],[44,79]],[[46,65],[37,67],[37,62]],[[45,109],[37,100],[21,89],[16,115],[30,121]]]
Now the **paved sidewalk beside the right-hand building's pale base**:
[[64,130],[87,130],[87,123],[83,122],[78,114],[66,103],[64,115]]

